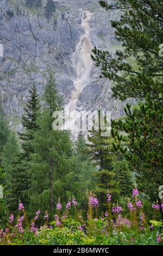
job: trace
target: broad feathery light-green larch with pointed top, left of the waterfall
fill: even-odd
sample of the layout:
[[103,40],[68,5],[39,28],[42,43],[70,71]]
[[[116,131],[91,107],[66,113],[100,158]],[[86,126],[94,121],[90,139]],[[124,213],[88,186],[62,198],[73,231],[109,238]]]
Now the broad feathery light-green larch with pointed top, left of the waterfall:
[[73,177],[69,133],[53,130],[52,127],[53,112],[62,109],[52,74],[49,74],[43,101],[43,110],[37,119],[39,130],[35,132],[33,141],[30,212],[40,209],[52,214],[58,198],[65,202],[70,196],[71,184],[68,182]]

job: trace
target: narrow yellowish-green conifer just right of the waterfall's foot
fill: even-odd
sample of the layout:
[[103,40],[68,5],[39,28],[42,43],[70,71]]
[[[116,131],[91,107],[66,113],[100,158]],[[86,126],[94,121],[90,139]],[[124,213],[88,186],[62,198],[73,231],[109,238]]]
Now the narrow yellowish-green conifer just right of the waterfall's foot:
[[106,193],[112,194],[112,200],[116,202],[118,199],[118,183],[115,179],[115,173],[113,172],[112,163],[117,159],[115,153],[111,150],[111,138],[101,136],[102,130],[100,127],[99,118],[99,130],[90,131],[88,136],[89,144],[88,154],[94,165],[98,167],[98,171],[95,173],[96,189],[93,191],[99,196],[102,210],[106,209]]

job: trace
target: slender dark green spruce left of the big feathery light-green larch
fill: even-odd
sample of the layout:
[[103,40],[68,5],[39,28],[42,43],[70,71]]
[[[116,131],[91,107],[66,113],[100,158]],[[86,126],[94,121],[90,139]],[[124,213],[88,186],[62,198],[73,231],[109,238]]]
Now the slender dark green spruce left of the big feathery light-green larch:
[[[34,153],[32,142],[34,139],[34,132],[38,128],[36,117],[39,109],[39,96],[36,92],[36,86],[33,85],[32,88],[29,89],[29,99],[24,107],[24,114],[22,116],[23,131],[18,132],[18,137],[21,141],[21,151],[19,151],[18,154],[15,152],[15,160],[11,163],[12,184],[8,203],[9,208],[12,211],[17,210],[18,200],[21,200],[24,205],[26,205],[26,209],[29,204],[30,155]],[[11,150],[14,150],[14,147],[17,148],[17,145],[12,145]]]

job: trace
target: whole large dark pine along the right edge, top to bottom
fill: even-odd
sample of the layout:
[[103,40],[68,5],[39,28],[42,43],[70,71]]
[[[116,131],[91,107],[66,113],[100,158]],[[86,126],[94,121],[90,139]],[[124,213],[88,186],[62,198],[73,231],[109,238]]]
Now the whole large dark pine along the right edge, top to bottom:
[[136,108],[127,105],[126,117],[112,122],[114,148],[137,173],[139,189],[157,199],[162,184],[162,3],[146,0],[100,1],[106,10],[123,10],[112,21],[122,50],[93,50],[93,60],[102,76],[113,83],[114,96],[141,99]]

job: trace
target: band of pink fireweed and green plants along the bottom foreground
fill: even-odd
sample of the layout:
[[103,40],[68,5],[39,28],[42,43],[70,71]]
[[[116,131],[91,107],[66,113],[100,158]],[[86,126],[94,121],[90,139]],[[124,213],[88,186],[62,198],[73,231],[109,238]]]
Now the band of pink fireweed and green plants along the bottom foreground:
[[[158,221],[163,204],[152,205],[154,220],[147,222],[139,191],[134,188],[126,208],[126,216],[118,204],[111,203],[111,194],[106,194],[108,209],[98,217],[99,202],[95,194],[88,195],[87,218],[78,210],[73,197],[62,211],[58,200],[53,221],[46,211],[40,210],[29,223],[24,205],[18,204],[18,217],[9,217],[8,227],[0,230],[1,245],[161,245],[163,223]],[[43,217],[44,223],[39,225]]]

